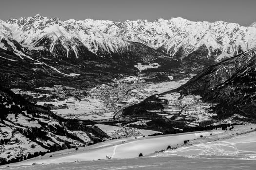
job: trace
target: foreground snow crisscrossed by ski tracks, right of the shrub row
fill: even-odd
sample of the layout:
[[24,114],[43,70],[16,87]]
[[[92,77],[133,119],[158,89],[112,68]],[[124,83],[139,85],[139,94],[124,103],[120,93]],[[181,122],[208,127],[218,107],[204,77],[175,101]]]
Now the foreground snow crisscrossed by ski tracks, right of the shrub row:
[[[254,131],[238,136],[235,136],[234,133],[230,135],[230,138],[220,138],[220,140],[217,138],[214,139],[216,136],[211,136],[208,137],[208,141],[198,141],[192,145],[159,153],[153,157],[186,156],[208,158],[215,156],[254,160],[256,163],[256,132]],[[209,140],[211,138],[212,140]]]

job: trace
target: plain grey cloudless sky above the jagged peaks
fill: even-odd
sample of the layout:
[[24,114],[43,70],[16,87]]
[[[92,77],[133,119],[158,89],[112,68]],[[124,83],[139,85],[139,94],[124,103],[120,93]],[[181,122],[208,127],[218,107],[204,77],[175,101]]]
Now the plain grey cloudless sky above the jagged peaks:
[[61,20],[113,21],[183,17],[192,21],[256,21],[256,0],[0,0],[0,19],[41,14]]

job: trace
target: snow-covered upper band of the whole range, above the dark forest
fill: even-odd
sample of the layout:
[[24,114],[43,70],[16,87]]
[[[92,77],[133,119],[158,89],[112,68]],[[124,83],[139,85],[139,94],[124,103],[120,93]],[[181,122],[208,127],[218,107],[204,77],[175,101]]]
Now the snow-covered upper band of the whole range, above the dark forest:
[[76,43],[71,43],[72,39],[76,39],[90,51],[101,56],[121,54],[129,51],[129,46],[136,44],[134,42],[140,42],[178,58],[184,58],[205,47],[203,57],[219,61],[256,45],[255,27],[244,27],[223,21],[192,22],[183,18],[160,18],[154,22],[92,19],[61,21],[58,18],[48,19],[36,15],[10,19],[3,25],[9,29],[12,38],[25,47],[35,48],[34,42],[42,36],[55,34],[58,38],[64,37],[62,43],[70,41],[68,44],[74,51],[78,51],[79,48],[76,47]]

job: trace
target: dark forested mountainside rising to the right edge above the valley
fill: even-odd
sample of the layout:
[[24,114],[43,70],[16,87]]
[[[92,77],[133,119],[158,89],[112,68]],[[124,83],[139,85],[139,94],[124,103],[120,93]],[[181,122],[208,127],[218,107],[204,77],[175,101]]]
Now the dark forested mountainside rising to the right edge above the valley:
[[204,69],[178,90],[200,95],[214,107],[218,118],[233,114],[256,119],[256,48]]

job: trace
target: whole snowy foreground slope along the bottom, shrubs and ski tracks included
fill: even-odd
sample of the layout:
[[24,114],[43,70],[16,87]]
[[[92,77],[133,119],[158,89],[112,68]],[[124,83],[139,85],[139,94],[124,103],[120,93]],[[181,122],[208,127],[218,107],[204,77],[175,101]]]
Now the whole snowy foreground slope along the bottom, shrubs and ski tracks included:
[[[12,170],[167,170],[170,167],[175,170],[203,170],[206,167],[210,170],[216,170],[218,167],[227,170],[238,170],[241,167],[243,170],[253,170],[256,163],[255,127],[240,125],[229,131],[124,138],[79,148],[78,151],[62,150],[48,153],[45,156],[10,164],[9,167]],[[188,142],[183,144],[184,140]],[[170,147],[167,148],[168,145]],[[143,154],[142,158],[136,158],[139,153]],[[109,160],[102,160],[106,159],[106,156]],[[0,168],[9,169],[5,166]]]

